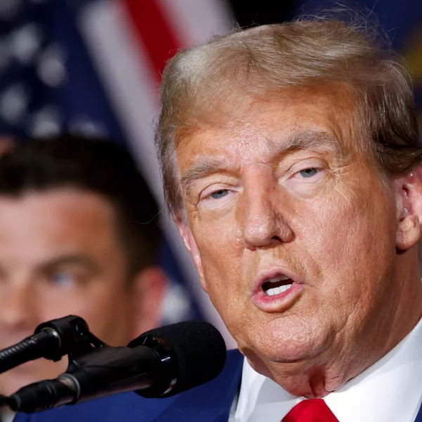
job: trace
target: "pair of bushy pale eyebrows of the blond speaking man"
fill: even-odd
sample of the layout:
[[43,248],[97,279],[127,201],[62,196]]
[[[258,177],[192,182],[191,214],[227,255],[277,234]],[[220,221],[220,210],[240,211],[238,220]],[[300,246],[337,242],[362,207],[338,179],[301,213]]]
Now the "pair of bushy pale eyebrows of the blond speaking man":
[[[282,155],[307,149],[331,151],[334,153],[343,151],[338,139],[335,139],[328,132],[317,130],[295,131],[287,136],[286,139],[283,139],[283,141],[267,139],[267,145],[271,155]],[[224,158],[199,157],[196,163],[184,172],[180,179],[181,187],[185,192],[188,192],[194,181],[217,172],[229,172],[229,167]]]

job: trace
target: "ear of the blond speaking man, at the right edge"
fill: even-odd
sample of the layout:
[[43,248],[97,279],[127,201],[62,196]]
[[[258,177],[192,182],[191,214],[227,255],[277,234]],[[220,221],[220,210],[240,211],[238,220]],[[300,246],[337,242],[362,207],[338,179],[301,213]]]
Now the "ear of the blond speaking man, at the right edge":
[[397,240],[399,250],[408,250],[421,239],[422,167],[395,179]]

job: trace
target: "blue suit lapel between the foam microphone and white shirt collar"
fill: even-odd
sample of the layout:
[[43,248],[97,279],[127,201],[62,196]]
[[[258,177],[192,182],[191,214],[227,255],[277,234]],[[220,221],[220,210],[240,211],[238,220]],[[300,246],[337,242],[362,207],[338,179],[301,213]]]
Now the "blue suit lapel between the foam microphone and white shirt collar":
[[154,422],[227,422],[241,382],[243,356],[238,350],[227,355],[226,366],[210,383],[181,393]]

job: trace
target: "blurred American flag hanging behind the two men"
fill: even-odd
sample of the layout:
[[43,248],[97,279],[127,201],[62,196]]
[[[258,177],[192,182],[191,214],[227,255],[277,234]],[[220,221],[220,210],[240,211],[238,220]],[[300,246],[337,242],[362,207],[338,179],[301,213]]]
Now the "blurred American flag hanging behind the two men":
[[[162,205],[153,146],[160,74],[177,49],[231,27],[223,0],[1,0],[0,134],[127,143]],[[174,224],[162,226],[172,280],[163,322],[203,317],[234,345]]]

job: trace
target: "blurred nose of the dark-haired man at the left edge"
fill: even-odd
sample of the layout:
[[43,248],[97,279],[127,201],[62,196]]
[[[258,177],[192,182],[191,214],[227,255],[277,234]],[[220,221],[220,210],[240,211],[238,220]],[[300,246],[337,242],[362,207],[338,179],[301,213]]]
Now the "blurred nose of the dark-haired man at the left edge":
[[8,283],[1,288],[0,324],[7,331],[32,331],[37,325],[37,304],[30,283]]

